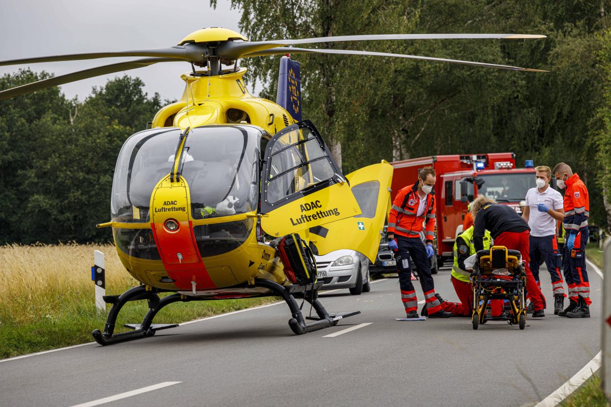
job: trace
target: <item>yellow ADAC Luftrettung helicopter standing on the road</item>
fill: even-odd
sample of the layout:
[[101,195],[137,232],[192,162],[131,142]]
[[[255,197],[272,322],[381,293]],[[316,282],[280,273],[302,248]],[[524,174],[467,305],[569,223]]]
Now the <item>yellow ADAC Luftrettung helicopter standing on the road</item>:
[[[403,57],[521,71],[541,71],[464,60],[293,45],[334,41],[427,38],[544,38],[521,34],[350,35],[301,40],[248,41],[238,32],[206,28],[177,46],[9,60],[37,62],[142,56],[0,92],[0,99],[87,77],[159,62],[186,61],[192,70],[181,99],[156,113],[152,128],[131,135],[119,153],[111,197],[111,226],[119,257],[139,282],[112,304],[101,345],[152,336],[177,325],[153,318],[176,301],[277,295],[287,302],[296,334],[338,323],[358,311],[329,314],[318,300],[310,254],[350,248],[374,261],[390,206],[392,167],[385,161],[344,176],[318,130],[301,120],[299,65],[281,61],[278,103],[249,95],[239,59],[323,53]],[[229,67],[222,68],[222,65]],[[233,67],[231,67],[233,65]],[[195,67],[205,67],[196,70]],[[293,239],[293,256],[283,244]],[[304,243],[300,243],[300,240]],[[288,249],[287,249],[288,250]],[[298,253],[297,255],[295,253]],[[284,255],[283,255],[284,254]],[[307,264],[306,264],[307,263]],[[302,270],[302,278],[295,270]],[[305,275],[303,273],[305,271]],[[160,293],[174,294],[159,297]],[[306,322],[296,301],[304,298],[318,317]],[[132,331],[114,334],[120,309],[147,300],[149,310]]]

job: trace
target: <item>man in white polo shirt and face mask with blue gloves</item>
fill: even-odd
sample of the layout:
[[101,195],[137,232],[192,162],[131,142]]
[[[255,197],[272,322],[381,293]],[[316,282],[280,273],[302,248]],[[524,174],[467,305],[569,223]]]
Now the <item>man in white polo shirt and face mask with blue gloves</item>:
[[526,193],[526,207],[522,214],[530,227],[530,270],[539,283],[539,265],[541,260],[545,261],[552,277],[554,314],[558,314],[564,307],[566,297],[560,272],[562,260],[556,240],[556,222],[565,217],[564,204],[562,194],[549,186],[552,170],[540,165],[535,171],[536,188]]

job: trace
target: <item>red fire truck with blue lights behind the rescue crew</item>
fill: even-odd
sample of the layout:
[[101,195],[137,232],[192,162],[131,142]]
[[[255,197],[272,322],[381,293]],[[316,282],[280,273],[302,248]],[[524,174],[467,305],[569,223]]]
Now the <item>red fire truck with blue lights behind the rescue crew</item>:
[[524,200],[530,188],[535,187],[532,160],[527,160],[526,168],[516,168],[513,153],[428,156],[390,164],[395,168],[392,200],[401,188],[417,181],[418,172],[423,167],[431,166],[435,169],[436,249],[439,266],[445,259],[452,259],[454,240],[463,231],[467,204],[475,196],[483,193],[520,212],[520,201]]

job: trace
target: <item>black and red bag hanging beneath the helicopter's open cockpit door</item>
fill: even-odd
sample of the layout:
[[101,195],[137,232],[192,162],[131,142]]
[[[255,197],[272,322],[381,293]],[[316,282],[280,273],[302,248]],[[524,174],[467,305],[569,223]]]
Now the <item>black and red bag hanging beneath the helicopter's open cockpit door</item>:
[[316,283],[316,260],[314,254],[298,234],[289,234],[278,245],[284,273],[293,284],[305,286]]

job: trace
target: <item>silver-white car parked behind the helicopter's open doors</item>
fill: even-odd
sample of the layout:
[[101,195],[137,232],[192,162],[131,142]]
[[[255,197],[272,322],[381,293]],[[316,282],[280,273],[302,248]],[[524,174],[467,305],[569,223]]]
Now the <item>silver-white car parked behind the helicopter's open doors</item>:
[[369,292],[369,259],[356,250],[335,250],[324,256],[314,256],[321,290],[348,288],[350,294]]

